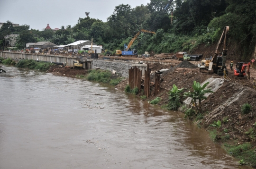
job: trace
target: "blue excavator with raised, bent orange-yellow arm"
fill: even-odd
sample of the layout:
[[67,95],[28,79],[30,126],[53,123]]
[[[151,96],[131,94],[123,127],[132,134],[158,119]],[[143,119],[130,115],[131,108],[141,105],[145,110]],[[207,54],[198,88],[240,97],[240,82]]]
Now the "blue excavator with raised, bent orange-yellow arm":
[[132,40],[129,42],[128,45],[124,45],[125,46],[125,50],[121,51],[121,50],[117,50],[116,54],[118,56],[123,56],[123,57],[137,57],[137,53],[133,50],[130,49],[131,45],[133,44],[133,42],[137,39],[138,35],[141,32],[146,32],[146,33],[151,33],[151,34],[155,34],[155,32],[151,32],[151,31],[147,31],[145,29],[141,29],[137,32],[137,34],[135,34],[135,36],[132,38]]

